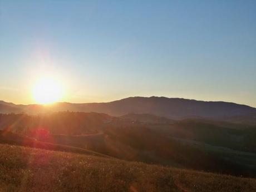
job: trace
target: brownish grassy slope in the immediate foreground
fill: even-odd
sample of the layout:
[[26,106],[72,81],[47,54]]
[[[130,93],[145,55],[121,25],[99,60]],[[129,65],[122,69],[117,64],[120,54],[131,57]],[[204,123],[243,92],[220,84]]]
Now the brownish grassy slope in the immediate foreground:
[[256,180],[0,144],[0,191],[256,191]]

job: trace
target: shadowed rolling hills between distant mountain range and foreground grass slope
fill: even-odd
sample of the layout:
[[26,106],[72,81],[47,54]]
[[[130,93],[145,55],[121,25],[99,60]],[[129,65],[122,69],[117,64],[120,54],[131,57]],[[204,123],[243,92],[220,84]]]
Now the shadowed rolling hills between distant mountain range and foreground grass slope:
[[[42,146],[46,143],[58,146],[57,149],[72,146],[124,160],[255,177],[255,127],[238,129],[237,125],[234,128],[232,124],[225,125],[204,120],[166,121],[136,114],[125,117],[83,112],[0,115],[4,132],[36,139]],[[2,140],[8,138],[7,135]],[[15,139],[11,141],[23,145]]]

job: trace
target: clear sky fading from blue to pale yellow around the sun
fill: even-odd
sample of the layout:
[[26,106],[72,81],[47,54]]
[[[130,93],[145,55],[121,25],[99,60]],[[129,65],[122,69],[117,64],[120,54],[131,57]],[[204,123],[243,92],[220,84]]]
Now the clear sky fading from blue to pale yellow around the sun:
[[0,100],[40,76],[68,102],[129,96],[256,107],[256,1],[0,0]]

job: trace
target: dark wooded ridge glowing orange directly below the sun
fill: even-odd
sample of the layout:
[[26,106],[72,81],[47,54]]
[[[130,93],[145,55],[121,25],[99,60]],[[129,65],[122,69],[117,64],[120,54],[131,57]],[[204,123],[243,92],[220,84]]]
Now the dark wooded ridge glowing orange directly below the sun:
[[23,134],[35,134],[44,129],[51,134],[96,134],[115,117],[106,114],[83,112],[55,112],[41,115],[0,114],[0,130],[12,130]]

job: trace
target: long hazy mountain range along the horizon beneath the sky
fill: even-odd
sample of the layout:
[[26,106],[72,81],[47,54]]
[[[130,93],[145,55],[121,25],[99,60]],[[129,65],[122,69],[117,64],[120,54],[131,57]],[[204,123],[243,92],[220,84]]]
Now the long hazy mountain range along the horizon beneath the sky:
[[15,105],[0,101],[0,113],[38,114],[56,111],[100,112],[111,116],[127,114],[151,114],[168,119],[206,118],[234,122],[256,122],[256,108],[223,101],[197,101],[167,97],[128,97],[126,99],[102,102],[72,104],[58,102],[53,105]]

